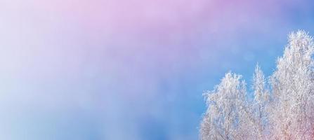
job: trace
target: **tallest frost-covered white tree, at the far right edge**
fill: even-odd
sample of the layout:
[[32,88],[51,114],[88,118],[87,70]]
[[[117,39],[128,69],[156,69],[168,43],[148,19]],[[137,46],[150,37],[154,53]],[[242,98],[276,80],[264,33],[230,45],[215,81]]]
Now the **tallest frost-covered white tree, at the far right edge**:
[[304,31],[289,35],[284,55],[271,76],[275,139],[310,139],[313,121],[313,38]]

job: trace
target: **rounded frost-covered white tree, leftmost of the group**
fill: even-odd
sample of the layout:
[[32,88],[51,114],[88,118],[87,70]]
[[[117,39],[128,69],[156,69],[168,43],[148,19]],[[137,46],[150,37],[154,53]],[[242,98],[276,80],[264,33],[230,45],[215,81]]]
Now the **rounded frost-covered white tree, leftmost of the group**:
[[203,140],[236,139],[244,124],[242,106],[245,106],[245,83],[240,75],[226,73],[215,90],[207,92],[207,113],[200,134]]

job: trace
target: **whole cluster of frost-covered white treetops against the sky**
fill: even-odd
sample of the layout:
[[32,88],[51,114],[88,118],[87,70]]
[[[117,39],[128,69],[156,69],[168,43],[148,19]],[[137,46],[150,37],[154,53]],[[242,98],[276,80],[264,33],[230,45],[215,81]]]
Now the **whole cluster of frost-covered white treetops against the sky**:
[[248,97],[242,76],[226,73],[204,93],[208,109],[200,139],[314,139],[313,52],[313,38],[305,31],[289,34],[271,76],[256,66],[254,98]]

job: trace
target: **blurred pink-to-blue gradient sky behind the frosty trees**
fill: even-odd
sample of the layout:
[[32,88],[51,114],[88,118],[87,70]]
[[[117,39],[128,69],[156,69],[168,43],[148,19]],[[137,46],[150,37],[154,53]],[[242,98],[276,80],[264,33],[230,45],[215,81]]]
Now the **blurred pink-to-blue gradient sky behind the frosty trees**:
[[202,92],[313,25],[310,0],[0,0],[0,139],[198,139]]

